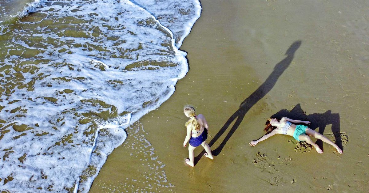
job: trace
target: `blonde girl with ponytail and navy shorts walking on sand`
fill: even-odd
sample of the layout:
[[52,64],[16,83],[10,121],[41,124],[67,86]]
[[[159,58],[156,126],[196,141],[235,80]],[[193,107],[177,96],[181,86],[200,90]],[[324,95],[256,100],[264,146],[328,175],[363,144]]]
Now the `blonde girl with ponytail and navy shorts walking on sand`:
[[207,139],[207,132],[208,132],[208,124],[204,115],[196,115],[195,109],[192,106],[184,106],[183,109],[184,114],[190,118],[186,122],[187,127],[187,136],[184,139],[183,147],[186,147],[187,142],[190,141],[190,145],[188,147],[190,159],[186,159],[186,163],[192,167],[194,167],[194,153],[193,151],[197,146],[201,144],[204,147],[206,153],[204,156],[214,159],[213,155],[211,154],[211,150],[209,145],[206,143]]

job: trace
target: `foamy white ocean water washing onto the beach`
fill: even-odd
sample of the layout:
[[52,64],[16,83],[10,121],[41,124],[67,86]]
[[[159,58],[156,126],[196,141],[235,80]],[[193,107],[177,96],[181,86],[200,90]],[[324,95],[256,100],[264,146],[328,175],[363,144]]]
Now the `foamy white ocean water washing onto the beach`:
[[200,3],[0,5],[0,190],[87,192],[124,129],[186,75],[178,48]]

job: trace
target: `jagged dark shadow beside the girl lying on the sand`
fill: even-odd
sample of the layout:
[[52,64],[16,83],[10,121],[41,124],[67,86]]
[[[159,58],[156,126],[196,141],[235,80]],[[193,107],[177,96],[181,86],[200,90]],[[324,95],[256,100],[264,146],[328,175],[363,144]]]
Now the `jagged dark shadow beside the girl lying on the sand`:
[[[324,133],[325,127],[327,125],[332,125],[332,133],[336,140],[335,143],[338,145],[339,148],[341,148],[342,150],[344,149],[342,146],[342,137],[341,137],[338,113],[332,113],[330,110],[328,110],[324,113],[314,113],[314,114],[306,115],[305,112],[301,109],[300,104],[297,104],[296,106],[292,108],[291,111],[288,111],[287,109],[283,109],[277,112],[276,114],[272,115],[271,117],[274,117],[277,119],[281,119],[282,117],[288,117],[290,119],[310,121],[311,125],[307,125],[307,126],[313,130],[315,130],[316,128],[319,128],[318,133],[322,135]],[[323,150],[322,140],[318,139],[315,143],[320,147],[320,149]]]

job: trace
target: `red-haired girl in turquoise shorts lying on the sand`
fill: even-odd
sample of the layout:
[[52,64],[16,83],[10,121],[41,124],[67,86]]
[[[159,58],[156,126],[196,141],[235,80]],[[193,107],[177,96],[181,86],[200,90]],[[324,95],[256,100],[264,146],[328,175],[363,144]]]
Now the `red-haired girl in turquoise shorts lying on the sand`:
[[332,145],[335,149],[337,149],[338,153],[342,153],[341,148],[339,148],[335,143],[333,143],[331,140],[329,140],[324,135],[321,135],[318,132],[315,132],[313,129],[308,128],[304,125],[294,125],[293,123],[304,123],[304,124],[310,124],[310,121],[299,121],[299,120],[293,120],[289,119],[287,117],[283,117],[280,119],[280,121],[276,118],[269,118],[265,125],[266,128],[264,129],[265,132],[269,132],[268,134],[262,136],[260,139],[256,141],[251,141],[250,146],[256,146],[259,142],[268,139],[270,136],[273,136],[275,134],[284,134],[284,135],[290,135],[293,136],[297,141],[306,141],[308,144],[311,144],[315,147],[315,149],[318,151],[318,153],[323,153],[323,151],[320,149],[320,147],[315,144],[309,136],[313,136],[317,139],[322,140],[325,143],[328,143]]

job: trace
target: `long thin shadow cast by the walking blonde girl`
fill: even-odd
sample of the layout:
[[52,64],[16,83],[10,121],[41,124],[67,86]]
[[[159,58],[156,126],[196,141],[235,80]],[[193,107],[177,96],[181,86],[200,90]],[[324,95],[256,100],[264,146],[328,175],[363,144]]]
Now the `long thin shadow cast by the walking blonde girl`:
[[[265,82],[262,83],[262,85],[259,86],[258,89],[256,89],[249,97],[247,97],[247,99],[245,99],[240,104],[238,110],[231,115],[231,117],[228,119],[227,122],[225,122],[223,127],[218,131],[218,133],[214,136],[214,138],[211,139],[209,143],[210,147],[212,147],[214,143],[217,142],[217,140],[228,129],[231,123],[235,119],[237,119],[232,128],[230,129],[230,131],[228,132],[227,136],[225,136],[223,142],[217,147],[217,149],[214,149],[212,151],[213,156],[218,156],[220,154],[224,145],[228,142],[233,133],[237,130],[239,124],[241,124],[242,120],[244,119],[245,114],[251,109],[251,107],[253,107],[260,99],[262,99],[270,90],[272,90],[279,76],[282,75],[284,70],[286,70],[291,64],[294,58],[294,53],[300,47],[300,45],[301,41],[296,41],[290,46],[290,48],[286,51],[287,57],[275,65],[272,74],[270,74],[268,78],[265,80]],[[204,153],[205,150],[203,150],[198,156],[195,157],[194,164],[196,164],[200,160],[200,158],[203,156]]]

